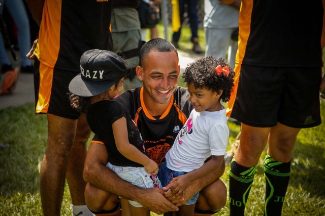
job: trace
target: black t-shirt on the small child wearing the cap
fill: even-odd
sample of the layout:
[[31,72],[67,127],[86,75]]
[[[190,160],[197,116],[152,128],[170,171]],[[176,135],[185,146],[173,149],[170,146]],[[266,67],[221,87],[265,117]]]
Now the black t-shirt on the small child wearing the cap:
[[125,158],[116,148],[112,124],[125,117],[129,143],[146,154],[140,132],[131,115],[121,103],[107,100],[96,102],[87,108],[86,117],[91,131],[95,134],[94,140],[105,144],[110,163],[117,166],[143,167],[143,165]]

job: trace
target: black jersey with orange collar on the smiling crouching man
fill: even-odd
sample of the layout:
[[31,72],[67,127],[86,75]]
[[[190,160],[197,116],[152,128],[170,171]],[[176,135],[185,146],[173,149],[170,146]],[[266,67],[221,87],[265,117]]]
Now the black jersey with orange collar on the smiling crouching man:
[[128,109],[136,122],[148,156],[158,165],[163,163],[167,151],[174,144],[178,132],[192,110],[187,90],[178,87],[167,110],[161,116],[151,116],[148,113],[143,103],[143,88],[127,91],[117,100]]

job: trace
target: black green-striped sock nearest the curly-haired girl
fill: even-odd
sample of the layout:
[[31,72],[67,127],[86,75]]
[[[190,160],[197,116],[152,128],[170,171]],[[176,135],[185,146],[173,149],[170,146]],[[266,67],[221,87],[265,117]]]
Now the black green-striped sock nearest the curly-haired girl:
[[246,201],[252,187],[256,166],[245,167],[232,160],[229,173],[230,215],[244,215]]

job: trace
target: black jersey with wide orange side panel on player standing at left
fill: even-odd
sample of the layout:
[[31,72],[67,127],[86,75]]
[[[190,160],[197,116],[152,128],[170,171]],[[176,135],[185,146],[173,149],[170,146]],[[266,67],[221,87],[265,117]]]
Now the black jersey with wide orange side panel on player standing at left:
[[112,50],[111,0],[45,0],[34,54],[50,68],[80,72],[91,49]]

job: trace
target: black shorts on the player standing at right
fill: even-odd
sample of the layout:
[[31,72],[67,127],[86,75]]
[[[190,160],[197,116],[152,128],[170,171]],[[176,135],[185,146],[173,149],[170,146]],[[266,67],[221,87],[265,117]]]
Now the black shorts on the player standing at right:
[[[319,125],[321,68],[277,68],[241,65],[230,116],[255,127],[280,122],[289,127]],[[235,88],[236,89],[236,88]]]

